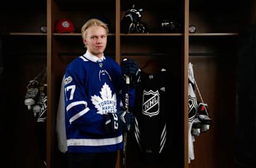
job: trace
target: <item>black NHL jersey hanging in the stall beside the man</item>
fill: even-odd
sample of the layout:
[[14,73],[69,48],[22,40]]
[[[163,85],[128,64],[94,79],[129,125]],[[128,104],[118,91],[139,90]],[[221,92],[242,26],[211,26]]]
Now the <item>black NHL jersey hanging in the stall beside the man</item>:
[[[168,98],[166,70],[157,74],[141,71],[136,90],[135,139],[142,153],[161,153],[166,143],[166,113]],[[169,108],[170,109],[170,108]]]

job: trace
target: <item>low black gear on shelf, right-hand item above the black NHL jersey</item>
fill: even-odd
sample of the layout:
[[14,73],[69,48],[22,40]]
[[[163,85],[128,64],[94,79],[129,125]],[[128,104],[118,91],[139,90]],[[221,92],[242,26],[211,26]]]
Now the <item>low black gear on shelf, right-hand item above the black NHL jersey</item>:
[[181,32],[181,24],[171,19],[163,19],[160,27],[163,32]]

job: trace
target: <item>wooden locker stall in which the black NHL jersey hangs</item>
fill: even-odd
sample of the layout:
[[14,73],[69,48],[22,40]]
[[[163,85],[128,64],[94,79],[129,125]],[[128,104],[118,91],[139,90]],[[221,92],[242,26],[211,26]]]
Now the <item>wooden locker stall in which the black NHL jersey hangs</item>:
[[[177,102],[170,102],[169,116],[175,118],[176,124],[173,128],[167,128],[166,150],[167,157],[163,157],[160,161],[146,164],[142,161],[139,146],[135,140],[134,132],[128,134],[127,141],[127,167],[183,167],[183,113],[179,108],[175,111],[175,107],[181,107],[181,85],[182,85],[182,59],[184,55],[184,2],[183,1],[120,1],[120,18],[124,18],[125,12],[135,5],[135,9],[143,9],[141,12],[141,21],[147,24],[148,33],[124,33],[121,29],[120,33],[120,55],[121,60],[124,57],[134,59],[139,68],[148,74],[156,74],[162,68],[165,68],[171,76],[170,80],[180,87],[167,88],[177,90],[178,95],[173,96]],[[180,31],[173,33],[161,30],[161,21],[170,19],[179,22],[182,26]],[[155,62],[150,64],[150,62]],[[149,64],[147,66],[147,64]],[[155,64],[155,65],[154,65]],[[144,66],[147,66],[143,69]],[[150,67],[151,66],[151,67]],[[182,108],[182,107],[181,107]],[[134,111],[135,112],[135,111]],[[139,113],[139,112],[137,112]],[[170,119],[167,119],[172,121]],[[153,124],[153,123],[148,123]],[[169,124],[169,123],[167,123]],[[175,127],[174,127],[175,125]],[[173,130],[172,130],[173,129]],[[173,145],[175,144],[175,145]],[[174,147],[175,146],[175,147]],[[122,165],[120,166],[122,167]]]

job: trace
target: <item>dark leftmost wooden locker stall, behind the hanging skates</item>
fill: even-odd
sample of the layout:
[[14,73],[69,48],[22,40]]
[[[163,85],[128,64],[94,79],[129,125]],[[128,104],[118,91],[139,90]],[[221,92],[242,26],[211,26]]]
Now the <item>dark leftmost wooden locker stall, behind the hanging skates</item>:
[[1,167],[44,167],[36,119],[24,100],[28,82],[46,68],[46,33],[40,31],[46,25],[46,1],[6,1],[0,9],[4,65]]

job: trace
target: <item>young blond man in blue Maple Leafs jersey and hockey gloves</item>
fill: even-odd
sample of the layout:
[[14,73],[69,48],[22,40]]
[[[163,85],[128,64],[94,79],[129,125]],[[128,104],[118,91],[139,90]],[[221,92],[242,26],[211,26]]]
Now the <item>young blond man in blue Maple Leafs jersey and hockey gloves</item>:
[[[125,94],[122,75],[138,78],[133,60],[121,67],[103,52],[108,27],[90,19],[82,27],[84,55],[71,62],[65,73],[66,135],[69,167],[115,167],[117,150],[123,149],[122,132],[133,126],[134,116],[120,109]],[[133,82],[134,83],[134,82]],[[130,105],[134,104],[130,89]]]

